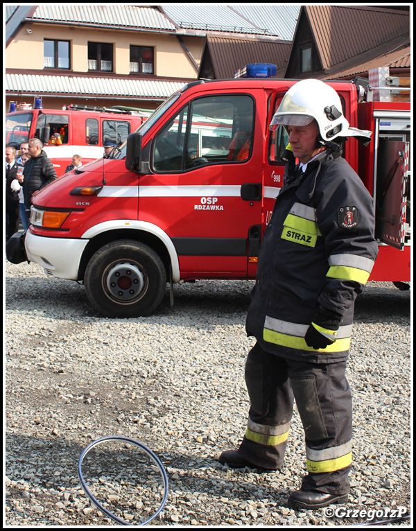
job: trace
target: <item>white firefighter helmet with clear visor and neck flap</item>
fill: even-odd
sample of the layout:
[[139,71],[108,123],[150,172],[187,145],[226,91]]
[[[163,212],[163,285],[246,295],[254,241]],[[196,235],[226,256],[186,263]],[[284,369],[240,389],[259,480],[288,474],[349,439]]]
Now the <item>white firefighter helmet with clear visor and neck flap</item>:
[[318,79],[304,79],[295,83],[281,100],[269,127],[271,130],[277,129],[279,124],[302,127],[313,120],[318,123],[320,136],[325,142],[336,137],[370,139],[370,131],[349,127],[336,90]]

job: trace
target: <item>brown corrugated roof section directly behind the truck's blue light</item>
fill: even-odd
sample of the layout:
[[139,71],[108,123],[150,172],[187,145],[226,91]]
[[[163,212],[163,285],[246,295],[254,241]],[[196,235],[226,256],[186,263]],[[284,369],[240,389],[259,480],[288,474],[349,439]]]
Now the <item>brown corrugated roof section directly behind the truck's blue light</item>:
[[200,76],[203,77],[209,62],[214,70],[214,79],[234,78],[234,73],[245,64],[268,62],[276,65],[277,77],[281,77],[286,69],[291,45],[291,41],[234,39],[207,35]]

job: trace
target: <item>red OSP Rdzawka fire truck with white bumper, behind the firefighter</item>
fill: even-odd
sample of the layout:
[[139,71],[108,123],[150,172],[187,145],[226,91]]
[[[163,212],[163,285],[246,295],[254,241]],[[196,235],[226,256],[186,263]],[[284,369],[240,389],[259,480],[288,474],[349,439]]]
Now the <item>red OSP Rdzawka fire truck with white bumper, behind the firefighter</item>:
[[[157,308],[166,282],[254,279],[282,186],[284,128],[268,124],[297,80],[197,81],[166,100],[114,159],[46,186],[33,199],[28,260],[83,281],[113,317]],[[361,101],[358,82],[331,82],[352,127],[372,130],[344,155],[374,197],[376,281],[410,280],[410,103]],[[367,94],[369,93],[367,87]],[[172,291],[171,291],[172,293]]]

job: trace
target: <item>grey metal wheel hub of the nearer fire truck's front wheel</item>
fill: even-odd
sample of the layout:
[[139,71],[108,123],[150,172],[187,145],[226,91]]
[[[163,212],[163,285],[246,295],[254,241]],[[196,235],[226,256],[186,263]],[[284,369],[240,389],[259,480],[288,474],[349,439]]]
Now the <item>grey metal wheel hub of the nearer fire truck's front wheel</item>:
[[137,265],[118,263],[107,275],[107,289],[119,301],[135,299],[144,288],[144,275]]

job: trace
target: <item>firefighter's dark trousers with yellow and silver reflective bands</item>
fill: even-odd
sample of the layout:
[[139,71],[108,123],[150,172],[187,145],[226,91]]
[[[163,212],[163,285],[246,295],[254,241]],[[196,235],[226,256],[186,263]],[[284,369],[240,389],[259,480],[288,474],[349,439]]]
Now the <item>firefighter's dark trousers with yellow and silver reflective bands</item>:
[[346,494],[352,462],[352,399],[345,366],[345,362],[281,358],[254,345],[245,365],[250,411],[241,455],[258,467],[283,466],[295,399],[308,469],[302,489]]

